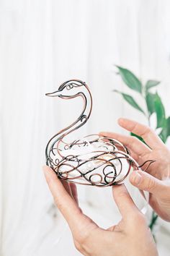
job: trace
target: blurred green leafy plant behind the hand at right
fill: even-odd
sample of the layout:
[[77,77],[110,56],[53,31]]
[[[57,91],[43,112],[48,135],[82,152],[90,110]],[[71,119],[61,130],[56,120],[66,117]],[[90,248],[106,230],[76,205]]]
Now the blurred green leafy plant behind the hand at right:
[[[122,81],[125,83],[125,85],[128,86],[128,88],[135,91],[137,97],[140,95],[141,101],[144,101],[146,108],[143,109],[133,96],[122,93],[119,90],[114,91],[116,93],[120,93],[124,100],[130,104],[130,106],[133,106],[133,108],[146,116],[149,126],[151,126],[152,114],[156,114],[156,130],[158,132],[158,136],[161,137],[161,140],[163,140],[164,143],[166,143],[166,140],[170,136],[170,116],[166,117],[164,104],[162,103],[161,97],[158,95],[158,91],[156,90],[160,82],[156,80],[148,80],[145,84],[143,84],[143,82],[139,80],[138,77],[133,74],[133,72],[130,72],[130,70],[119,66],[116,67],[118,69],[118,74],[120,74],[120,77],[122,78]],[[131,135],[138,137],[132,133]],[[143,141],[141,137],[138,137],[138,139]],[[158,216],[153,211],[151,223],[149,225],[152,232],[157,218]]]

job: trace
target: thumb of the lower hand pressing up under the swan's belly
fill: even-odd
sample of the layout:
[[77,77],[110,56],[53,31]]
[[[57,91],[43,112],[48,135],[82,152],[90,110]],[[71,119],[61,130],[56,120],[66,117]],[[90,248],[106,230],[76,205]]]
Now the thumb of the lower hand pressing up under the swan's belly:
[[117,208],[124,219],[130,218],[139,210],[130,197],[125,185],[117,185],[112,187],[113,197],[117,204]]

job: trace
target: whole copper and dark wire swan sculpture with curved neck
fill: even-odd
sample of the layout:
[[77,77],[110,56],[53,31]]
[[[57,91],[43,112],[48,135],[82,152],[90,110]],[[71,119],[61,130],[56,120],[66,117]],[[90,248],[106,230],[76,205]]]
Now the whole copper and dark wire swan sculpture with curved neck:
[[58,178],[76,184],[108,187],[124,182],[131,168],[138,170],[148,163],[147,169],[153,163],[146,161],[138,166],[128,148],[109,137],[89,135],[71,143],[63,141],[68,134],[82,127],[91,114],[92,97],[86,82],[68,80],[54,93],[45,95],[63,99],[81,97],[84,101],[79,118],[54,135],[46,146],[46,164],[53,168]]

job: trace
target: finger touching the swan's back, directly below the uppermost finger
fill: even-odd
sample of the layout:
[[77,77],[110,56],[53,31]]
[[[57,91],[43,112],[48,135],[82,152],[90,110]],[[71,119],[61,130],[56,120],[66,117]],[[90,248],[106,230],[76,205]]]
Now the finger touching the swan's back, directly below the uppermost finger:
[[127,146],[130,150],[132,150],[137,155],[144,155],[151,152],[151,149],[148,148],[147,145],[145,145],[143,142],[138,140],[136,137],[133,136],[126,136],[126,135],[120,135],[115,132],[101,132],[100,135],[112,137],[116,140],[120,140],[122,144]]

